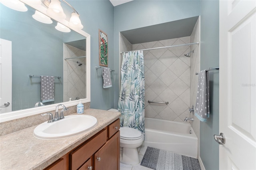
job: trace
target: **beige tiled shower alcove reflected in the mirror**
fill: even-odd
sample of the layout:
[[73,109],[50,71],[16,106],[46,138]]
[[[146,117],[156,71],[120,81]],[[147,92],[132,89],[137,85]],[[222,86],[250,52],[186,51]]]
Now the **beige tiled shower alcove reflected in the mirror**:
[[[63,57],[82,57],[86,56],[86,51],[78,49],[68,44],[63,44]],[[76,62],[82,63],[78,65]],[[63,101],[86,98],[86,58],[63,60]]]

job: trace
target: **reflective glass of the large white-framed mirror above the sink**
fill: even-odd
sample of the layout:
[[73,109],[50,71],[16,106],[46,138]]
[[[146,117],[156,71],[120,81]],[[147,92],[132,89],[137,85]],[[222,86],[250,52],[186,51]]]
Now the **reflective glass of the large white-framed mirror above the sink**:
[[[86,38],[73,30],[56,30],[55,20],[52,24],[34,20],[35,10],[26,7],[27,12],[19,12],[0,4],[1,46],[4,40],[11,42],[10,49],[6,49],[11,52],[11,67],[1,71],[1,76],[11,73],[8,79],[1,77],[1,89],[2,84],[10,83],[8,87],[11,87],[10,90],[2,89],[1,105],[10,102],[10,107],[9,110],[1,107],[0,113],[32,108],[38,102],[51,105],[86,98]],[[43,75],[55,76],[52,101],[41,99],[40,76]],[[12,97],[11,101],[5,101],[3,91]]]

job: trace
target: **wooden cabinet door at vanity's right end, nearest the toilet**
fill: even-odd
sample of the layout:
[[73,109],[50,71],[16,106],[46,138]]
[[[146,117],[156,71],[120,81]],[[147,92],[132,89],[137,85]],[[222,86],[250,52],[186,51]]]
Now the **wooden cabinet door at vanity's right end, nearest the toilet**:
[[94,154],[94,170],[120,169],[120,131]]

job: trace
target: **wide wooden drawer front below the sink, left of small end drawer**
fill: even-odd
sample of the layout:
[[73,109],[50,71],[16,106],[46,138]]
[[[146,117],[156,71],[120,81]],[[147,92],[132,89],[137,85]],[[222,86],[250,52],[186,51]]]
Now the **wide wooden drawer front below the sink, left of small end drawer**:
[[77,170],[88,158],[94,154],[107,140],[107,129],[105,128],[88,142],[70,153],[70,169]]

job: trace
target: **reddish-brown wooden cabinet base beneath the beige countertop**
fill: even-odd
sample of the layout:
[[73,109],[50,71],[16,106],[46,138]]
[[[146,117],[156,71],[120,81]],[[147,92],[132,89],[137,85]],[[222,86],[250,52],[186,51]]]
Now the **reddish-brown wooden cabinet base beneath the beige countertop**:
[[117,119],[45,170],[119,170],[119,129]]

